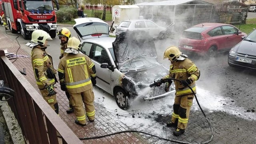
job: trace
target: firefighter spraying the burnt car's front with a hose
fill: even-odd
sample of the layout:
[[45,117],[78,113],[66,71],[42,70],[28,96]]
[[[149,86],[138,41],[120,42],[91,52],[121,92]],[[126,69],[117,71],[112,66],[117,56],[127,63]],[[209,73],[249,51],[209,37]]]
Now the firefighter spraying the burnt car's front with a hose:
[[175,78],[181,81],[174,81],[176,93],[172,119],[166,124],[168,127],[177,127],[177,129],[174,130],[175,136],[179,136],[185,132],[194,98],[188,86],[196,93],[195,81],[200,77],[200,70],[196,67],[194,62],[187,57],[188,56],[182,54],[176,46],[170,46],[164,52],[164,58],[168,58],[171,61],[170,73],[164,78]]

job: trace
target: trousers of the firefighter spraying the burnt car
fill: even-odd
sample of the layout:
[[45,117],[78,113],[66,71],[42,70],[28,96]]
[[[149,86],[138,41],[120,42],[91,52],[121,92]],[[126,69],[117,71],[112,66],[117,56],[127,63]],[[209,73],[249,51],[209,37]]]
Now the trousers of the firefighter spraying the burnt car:
[[172,123],[177,124],[179,129],[186,129],[188,125],[188,117],[190,108],[193,103],[193,94],[184,96],[175,96],[172,113]]

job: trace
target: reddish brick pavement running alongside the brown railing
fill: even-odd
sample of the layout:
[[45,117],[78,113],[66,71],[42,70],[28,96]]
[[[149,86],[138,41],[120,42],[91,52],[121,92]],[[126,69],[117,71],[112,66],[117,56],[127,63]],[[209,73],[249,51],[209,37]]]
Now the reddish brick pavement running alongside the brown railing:
[[[17,42],[11,40],[6,36],[3,32],[0,32],[0,49],[8,50],[9,53],[16,53],[18,50],[19,45]],[[27,52],[20,48],[18,50],[18,55],[30,56]],[[10,60],[13,62],[15,59]],[[18,70],[23,70],[26,68],[27,75],[24,76],[28,82],[39,92],[39,89],[36,85],[36,81],[34,79],[34,72],[32,70],[31,59],[30,57],[26,58],[18,58],[14,63],[14,66]],[[105,135],[111,134],[113,132],[119,132],[122,130],[129,130],[129,128],[123,124],[120,120],[116,117],[112,116],[110,112],[106,110],[100,104],[95,103],[95,110],[96,110],[96,118],[95,122],[88,122],[87,125],[82,127],[78,126],[74,123],[76,116],[74,113],[66,114],[66,109],[68,108],[68,100],[66,98],[65,92],[60,90],[60,85],[57,83],[55,86],[57,92],[57,101],[59,104],[59,114],[62,120],[70,127],[70,129],[78,136],[78,138],[85,138],[85,137],[93,137],[98,135]],[[40,92],[39,92],[40,93]],[[116,134],[113,136],[107,136],[104,138],[99,139],[92,139],[92,140],[82,140],[82,142],[88,144],[144,144],[147,143],[144,138],[139,136],[138,134],[134,133],[122,133]]]

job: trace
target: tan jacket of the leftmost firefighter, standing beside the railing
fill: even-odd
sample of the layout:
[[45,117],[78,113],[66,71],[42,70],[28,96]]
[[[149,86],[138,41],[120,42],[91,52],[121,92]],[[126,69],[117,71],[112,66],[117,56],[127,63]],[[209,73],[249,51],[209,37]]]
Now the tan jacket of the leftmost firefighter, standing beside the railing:
[[31,62],[39,89],[44,89],[47,85],[54,85],[55,76],[50,76],[46,71],[48,68],[54,72],[52,56],[46,53],[45,49],[35,46],[31,51]]

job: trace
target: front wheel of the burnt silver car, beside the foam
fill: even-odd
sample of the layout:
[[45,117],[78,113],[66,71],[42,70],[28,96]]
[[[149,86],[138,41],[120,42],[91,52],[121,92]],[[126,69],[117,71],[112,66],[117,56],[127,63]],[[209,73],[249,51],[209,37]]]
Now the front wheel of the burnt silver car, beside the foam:
[[122,110],[127,110],[132,106],[132,98],[122,88],[117,89],[114,96],[116,98],[116,104]]

